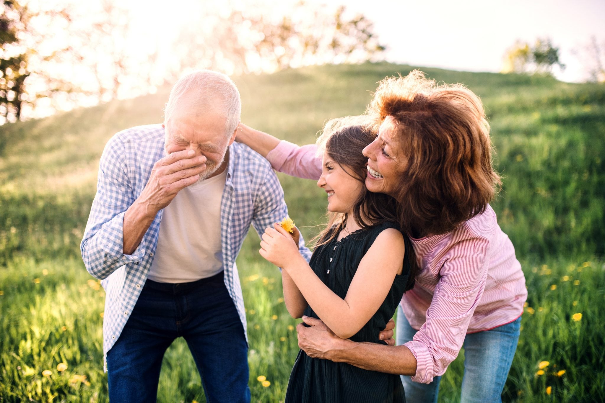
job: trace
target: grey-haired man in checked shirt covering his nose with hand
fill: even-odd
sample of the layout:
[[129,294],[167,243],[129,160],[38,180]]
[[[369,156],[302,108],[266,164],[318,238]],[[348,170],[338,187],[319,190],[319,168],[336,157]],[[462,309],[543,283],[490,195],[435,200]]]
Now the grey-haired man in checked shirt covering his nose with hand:
[[[228,77],[197,71],[172,88],[163,124],[119,132],[103,150],[81,250],[106,291],[113,402],[155,401],[162,357],[177,337],[208,401],[250,401],[235,258],[250,224],[263,233],[287,207],[270,164],[234,143],[240,112]],[[308,259],[304,241],[299,247]]]

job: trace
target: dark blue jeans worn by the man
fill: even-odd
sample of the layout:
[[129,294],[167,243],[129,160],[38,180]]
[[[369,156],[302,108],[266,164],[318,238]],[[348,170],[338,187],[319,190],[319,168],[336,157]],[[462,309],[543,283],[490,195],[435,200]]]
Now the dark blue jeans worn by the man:
[[192,283],[147,280],[107,353],[110,401],[155,402],[162,358],[177,337],[191,350],[209,403],[250,402],[246,338],[223,272]]

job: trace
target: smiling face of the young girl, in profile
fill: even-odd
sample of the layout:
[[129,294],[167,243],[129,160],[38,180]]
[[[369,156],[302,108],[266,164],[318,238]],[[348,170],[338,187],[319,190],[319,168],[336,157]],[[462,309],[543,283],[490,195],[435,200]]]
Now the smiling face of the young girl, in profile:
[[[348,172],[351,172],[348,173]],[[321,176],[317,185],[328,195],[328,211],[333,213],[350,213],[358,201],[364,184],[352,176],[352,170],[332,161],[324,152]]]

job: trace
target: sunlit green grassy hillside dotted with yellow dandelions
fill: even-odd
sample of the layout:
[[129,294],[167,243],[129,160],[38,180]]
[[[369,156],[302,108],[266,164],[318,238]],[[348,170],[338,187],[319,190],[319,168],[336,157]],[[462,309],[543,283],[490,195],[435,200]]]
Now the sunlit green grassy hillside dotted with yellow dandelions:
[[[410,69],[322,66],[235,81],[244,123],[307,143],[327,118],[361,114],[376,82]],[[492,125],[504,182],[492,205],[529,290],[503,400],[605,401],[605,86],[424,71],[479,94]],[[79,243],[103,146],[117,131],[160,122],[168,91],[0,126],[0,402],[108,400],[105,295],[85,270]],[[308,239],[322,222],[325,196],[314,181],[280,180],[290,216]],[[279,402],[298,352],[297,321],[281,299],[278,270],[257,250],[252,231],[237,261],[250,388],[254,402]],[[542,361],[548,366],[540,369]],[[440,401],[459,401],[462,375],[463,352],[442,380]],[[166,353],[159,401],[205,401],[183,340]]]

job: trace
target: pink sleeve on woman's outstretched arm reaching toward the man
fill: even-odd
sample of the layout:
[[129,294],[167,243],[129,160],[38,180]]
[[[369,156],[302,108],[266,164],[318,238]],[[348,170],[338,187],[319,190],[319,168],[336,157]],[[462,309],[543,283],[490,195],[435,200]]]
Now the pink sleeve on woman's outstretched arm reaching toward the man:
[[302,179],[318,180],[321,176],[321,156],[317,155],[316,144],[297,146],[281,140],[267,153],[267,160],[277,172]]

